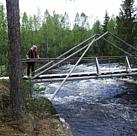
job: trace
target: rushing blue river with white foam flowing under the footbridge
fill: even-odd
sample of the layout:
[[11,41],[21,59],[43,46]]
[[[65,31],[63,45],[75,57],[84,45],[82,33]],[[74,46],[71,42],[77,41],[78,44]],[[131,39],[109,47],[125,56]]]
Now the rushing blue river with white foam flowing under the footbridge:
[[[72,65],[55,69],[66,73]],[[102,70],[117,64],[101,65]],[[92,64],[79,65],[75,72],[94,71]],[[60,82],[41,83],[44,97],[50,98]],[[118,79],[67,81],[53,101],[74,136],[137,136],[137,87]]]

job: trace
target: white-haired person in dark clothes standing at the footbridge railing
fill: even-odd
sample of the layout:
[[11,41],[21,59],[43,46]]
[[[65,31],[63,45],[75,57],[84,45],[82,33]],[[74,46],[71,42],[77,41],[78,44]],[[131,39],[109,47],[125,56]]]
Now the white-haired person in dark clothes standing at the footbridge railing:
[[[37,46],[33,45],[27,55],[27,59],[35,59],[39,58],[38,52],[37,52]],[[35,62],[27,62],[27,76],[30,76],[30,70],[31,70],[31,75],[34,76],[34,71],[35,71]]]

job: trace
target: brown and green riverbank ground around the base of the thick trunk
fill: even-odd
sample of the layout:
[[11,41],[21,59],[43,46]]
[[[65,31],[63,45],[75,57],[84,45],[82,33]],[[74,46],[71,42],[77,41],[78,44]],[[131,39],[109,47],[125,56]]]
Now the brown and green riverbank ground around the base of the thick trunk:
[[[27,87],[28,88],[28,87]],[[69,125],[46,98],[26,98],[26,113],[13,119],[8,83],[0,83],[0,136],[71,136]],[[62,121],[63,120],[63,121]]]

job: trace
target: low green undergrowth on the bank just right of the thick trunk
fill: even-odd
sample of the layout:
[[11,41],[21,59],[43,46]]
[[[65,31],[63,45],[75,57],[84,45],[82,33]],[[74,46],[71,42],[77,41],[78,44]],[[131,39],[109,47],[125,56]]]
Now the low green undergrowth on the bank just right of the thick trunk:
[[[32,89],[31,81],[24,82],[24,90],[25,90],[25,107],[27,112],[32,112],[36,114],[40,113],[47,113],[47,114],[57,114],[55,108],[53,107],[52,103],[44,98],[31,98],[27,97],[28,93],[30,93],[30,89]],[[45,87],[39,88],[39,86],[33,87],[33,93],[42,93],[45,91]]]

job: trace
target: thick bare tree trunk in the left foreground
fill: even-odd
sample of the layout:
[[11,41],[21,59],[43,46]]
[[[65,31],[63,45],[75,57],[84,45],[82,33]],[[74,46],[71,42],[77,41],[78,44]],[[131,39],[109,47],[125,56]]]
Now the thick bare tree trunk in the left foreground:
[[23,81],[21,74],[21,40],[19,0],[6,0],[9,40],[9,79],[11,112],[17,117],[24,111]]

